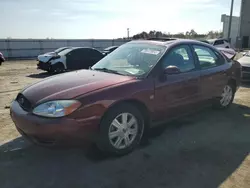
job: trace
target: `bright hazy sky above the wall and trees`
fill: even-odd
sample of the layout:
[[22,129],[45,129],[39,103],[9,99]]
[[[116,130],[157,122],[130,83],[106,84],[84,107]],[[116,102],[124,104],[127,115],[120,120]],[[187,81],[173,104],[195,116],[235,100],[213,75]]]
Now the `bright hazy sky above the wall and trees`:
[[[239,16],[240,0],[234,15]],[[0,38],[117,38],[222,30],[231,0],[0,0]]]

